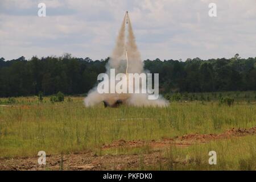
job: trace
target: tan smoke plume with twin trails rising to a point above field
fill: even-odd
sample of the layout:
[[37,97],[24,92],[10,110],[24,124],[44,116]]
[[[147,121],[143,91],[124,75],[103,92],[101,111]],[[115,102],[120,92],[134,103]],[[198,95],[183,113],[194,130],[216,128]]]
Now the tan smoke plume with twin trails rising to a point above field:
[[[125,40],[126,35],[126,24],[127,24],[127,42]],[[131,26],[131,21],[126,12],[125,17],[117,40],[115,47],[113,49],[112,55],[110,56],[109,62],[106,65],[106,73],[110,75],[110,69],[115,69],[115,74],[117,73],[143,73],[143,61],[141,60],[141,53],[137,48],[135,42],[135,36],[133,33],[133,28]],[[109,81],[109,80],[106,80]],[[115,82],[115,80],[113,80]],[[122,100],[123,104],[134,105],[134,106],[166,106],[168,102],[164,100],[161,96],[157,100],[148,100],[148,94],[100,94],[97,92],[97,86],[89,91],[88,97],[85,98],[85,106],[94,106],[100,104],[104,101],[108,102],[109,105],[113,105],[115,102]]]

